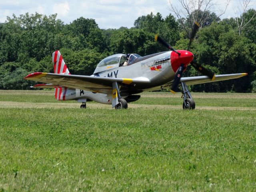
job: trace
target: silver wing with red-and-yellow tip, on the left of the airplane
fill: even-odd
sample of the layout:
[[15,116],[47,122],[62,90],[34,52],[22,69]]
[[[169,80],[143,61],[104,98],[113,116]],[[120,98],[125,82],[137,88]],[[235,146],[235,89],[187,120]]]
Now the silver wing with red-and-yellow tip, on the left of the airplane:
[[[134,84],[149,83],[147,78],[110,78],[97,76],[69,75],[36,72],[29,74],[24,79],[52,84],[51,86],[64,86],[74,89],[88,90],[104,94],[112,94],[112,83],[118,82],[133,86]],[[50,86],[50,85],[49,85]]]

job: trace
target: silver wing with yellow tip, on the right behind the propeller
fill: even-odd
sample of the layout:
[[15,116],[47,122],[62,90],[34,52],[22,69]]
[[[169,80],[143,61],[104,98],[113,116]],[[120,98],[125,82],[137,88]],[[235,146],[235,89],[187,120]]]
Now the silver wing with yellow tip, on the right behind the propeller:
[[185,82],[186,85],[195,85],[195,84],[210,83],[210,82],[216,82],[216,81],[224,81],[229,79],[236,79],[246,75],[247,73],[216,75],[214,80],[210,80],[208,76],[182,77],[180,78],[180,81]]

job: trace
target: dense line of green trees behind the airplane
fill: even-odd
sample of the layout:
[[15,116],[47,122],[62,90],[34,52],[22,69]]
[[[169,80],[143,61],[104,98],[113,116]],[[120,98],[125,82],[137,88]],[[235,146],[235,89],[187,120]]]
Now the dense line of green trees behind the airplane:
[[[256,10],[250,9],[243,20],[250,20]],[[91,75],[98,62],[116,53],[141,56],[166,51],[154,42],[158,33],[176,49],[188,46],[188,18],[176,20],[160,13],[140,16],[134,27],[100,29],[94,19],[78,18],[70,24],[56,19],[57,14],[24,14],[7,17],[0,23],[0,89],[30,89],[35,82],[23,77],[31,72],[53,72],[52,52],[60,50],[71,74]],[[256,18],[240,30],[237,18],[220,20],[214,12],[192,43],[190,51],[196,62],[216,74],[248,72],[237,80],[190,86],[192,91],[256,92]],[[184,28],[184,25],[187,28]],[[198,76],[187,68],[184,76]]]

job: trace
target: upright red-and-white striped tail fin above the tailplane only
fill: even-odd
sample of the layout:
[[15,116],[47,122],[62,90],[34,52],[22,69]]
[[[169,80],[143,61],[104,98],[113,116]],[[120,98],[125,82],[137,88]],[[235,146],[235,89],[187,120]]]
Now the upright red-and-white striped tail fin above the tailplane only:
[[70,72],[66,66],[66,63],[64,62],[62,55],[58,50],[52,53],[52,62],[54,67],[54,73],[70,75]]

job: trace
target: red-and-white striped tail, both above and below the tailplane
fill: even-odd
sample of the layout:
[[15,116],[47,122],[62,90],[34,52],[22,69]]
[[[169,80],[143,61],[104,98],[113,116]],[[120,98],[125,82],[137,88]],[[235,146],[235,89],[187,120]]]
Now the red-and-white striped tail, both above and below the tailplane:
[[[70,75],[70,72],[64,62],[62,55],[58,50],[52,53],[52,62],[54,67],[54,73],[56,74],[67,74]],[[54,87],[54,95],[56,100],[65,100],[66,92],[68,88],[62,86]]]

